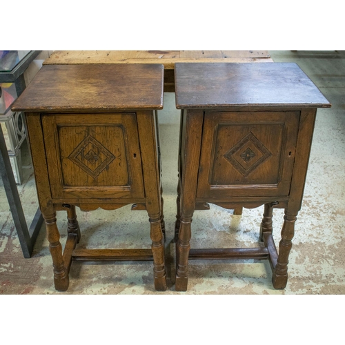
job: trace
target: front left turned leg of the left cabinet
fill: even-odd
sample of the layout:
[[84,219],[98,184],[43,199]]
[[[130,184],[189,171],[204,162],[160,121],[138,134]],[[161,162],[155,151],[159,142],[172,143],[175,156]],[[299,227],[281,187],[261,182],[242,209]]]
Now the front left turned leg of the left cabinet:
[[47,239],[49,242],[49,250],[52,255],[52,266],[54,267],[54,284],[58,291],[66,291],[68,289],[69,279],[66,275],[66,267],[63,265],[62,246],[59,242],[60,234],[57,228],[57,213],[50,215],[43,214],[46,221]]

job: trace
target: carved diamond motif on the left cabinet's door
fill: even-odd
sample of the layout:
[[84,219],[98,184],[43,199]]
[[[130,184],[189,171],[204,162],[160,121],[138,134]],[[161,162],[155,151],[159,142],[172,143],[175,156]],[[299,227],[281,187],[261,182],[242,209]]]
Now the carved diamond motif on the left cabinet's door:
[[116,157],[94,137],[88,135],[68,158],[95,179]]

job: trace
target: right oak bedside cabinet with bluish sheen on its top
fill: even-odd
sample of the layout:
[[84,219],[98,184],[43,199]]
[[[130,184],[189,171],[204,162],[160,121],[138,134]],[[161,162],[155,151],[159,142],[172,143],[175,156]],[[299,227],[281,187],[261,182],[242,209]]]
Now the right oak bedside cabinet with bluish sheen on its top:
[[[268,259],[274,288],[285,288],[301,208],[317,108],[331,104],[295,63],[176,63],[181,109],[176,290],[188,259]],[[190,249],[193,213],[264,204],[259,248]],[[284,208],[279,250],[273,208]]]

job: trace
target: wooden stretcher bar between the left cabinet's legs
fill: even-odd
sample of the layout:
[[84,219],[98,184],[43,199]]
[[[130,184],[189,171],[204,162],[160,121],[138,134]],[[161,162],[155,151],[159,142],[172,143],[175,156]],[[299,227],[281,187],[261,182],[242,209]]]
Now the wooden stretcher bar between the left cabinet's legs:
[[75,249],[72,258],[79,261],[148,261],[153,255],[151,249]]

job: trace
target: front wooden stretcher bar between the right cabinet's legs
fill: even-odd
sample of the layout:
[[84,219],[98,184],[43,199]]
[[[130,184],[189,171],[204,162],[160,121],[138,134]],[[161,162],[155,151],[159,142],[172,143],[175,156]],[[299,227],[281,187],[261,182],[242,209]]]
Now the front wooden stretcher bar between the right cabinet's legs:
[[189,259],[267,259],[267,248],[190,249]]

